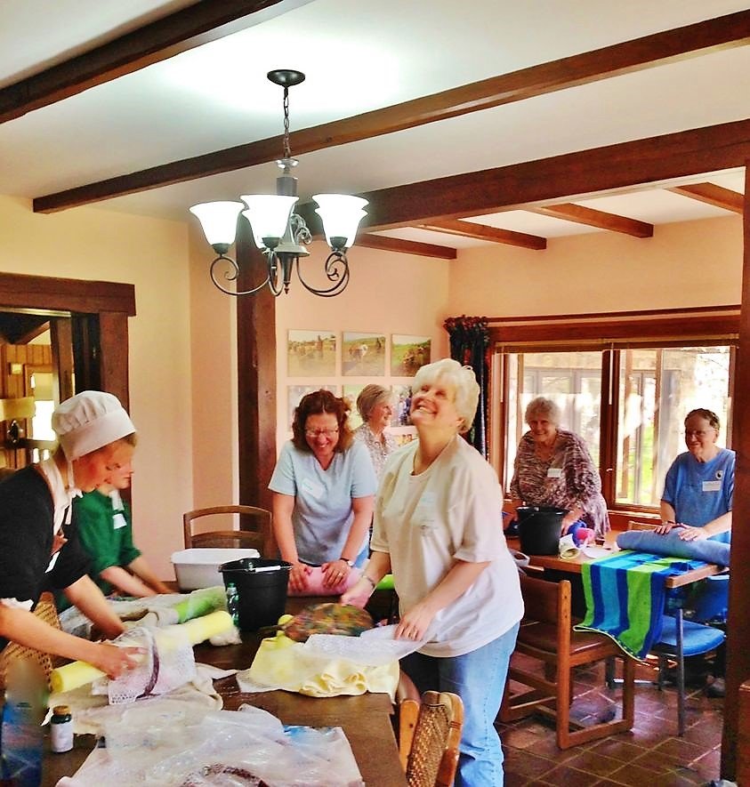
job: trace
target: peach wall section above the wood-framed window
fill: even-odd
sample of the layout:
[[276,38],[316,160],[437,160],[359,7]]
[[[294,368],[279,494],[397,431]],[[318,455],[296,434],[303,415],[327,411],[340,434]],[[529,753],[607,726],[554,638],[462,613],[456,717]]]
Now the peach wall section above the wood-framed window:
[[476,247],[449,268],[448,311],[488,317],[734,304],[742,219],[662,224],[654,237],[595,232],[545,251]]

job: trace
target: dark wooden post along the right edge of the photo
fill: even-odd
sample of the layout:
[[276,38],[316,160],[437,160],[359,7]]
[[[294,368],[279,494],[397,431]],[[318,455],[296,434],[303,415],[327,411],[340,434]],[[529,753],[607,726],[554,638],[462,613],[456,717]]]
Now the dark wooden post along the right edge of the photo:
[[[727,675],[722,736],[722,778],[735,780],[738,764],[739,687],[750,679],[750,161],[745,167],[745,251],[742,266],[742,305],[739,348],[732,402],[732,448],[737,451],[732,548],[730,614],[727,623]],[[747,719],[743,724],[750,723]]]

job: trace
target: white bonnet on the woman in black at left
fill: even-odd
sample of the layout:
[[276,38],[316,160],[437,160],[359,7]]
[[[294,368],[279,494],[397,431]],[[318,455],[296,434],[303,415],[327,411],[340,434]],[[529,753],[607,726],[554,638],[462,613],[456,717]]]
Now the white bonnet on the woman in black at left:
[[69,462],[133,434],[135,427],[119,399],[101,390],[84,390],[52,413],[52,430]]

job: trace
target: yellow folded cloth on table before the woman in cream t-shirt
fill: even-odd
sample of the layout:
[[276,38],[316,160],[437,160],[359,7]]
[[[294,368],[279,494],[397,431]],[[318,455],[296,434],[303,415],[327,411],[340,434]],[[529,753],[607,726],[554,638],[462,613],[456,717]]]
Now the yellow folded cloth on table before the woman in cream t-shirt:
[[310,653],[304,643],[294,642],[279,632],[275,638],[262,640],[249,675],[265,686],[311,697],[362,695],[369,691],[383,692],[393,699],[399,685],[399,663],[394,660],[375,667]]

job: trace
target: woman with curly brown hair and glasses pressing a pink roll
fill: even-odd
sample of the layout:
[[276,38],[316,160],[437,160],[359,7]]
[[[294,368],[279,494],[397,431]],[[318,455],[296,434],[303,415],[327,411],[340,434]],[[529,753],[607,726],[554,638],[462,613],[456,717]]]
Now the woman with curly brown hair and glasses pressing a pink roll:
[[338,592],[367,559],[375,504],[375,470],[367,448],[347,425],[350,406],[329,390],[302,397],[293,438],[270,479],[273,533],[292,564],[289,589],[303,593],[320,566],[327,592]]

